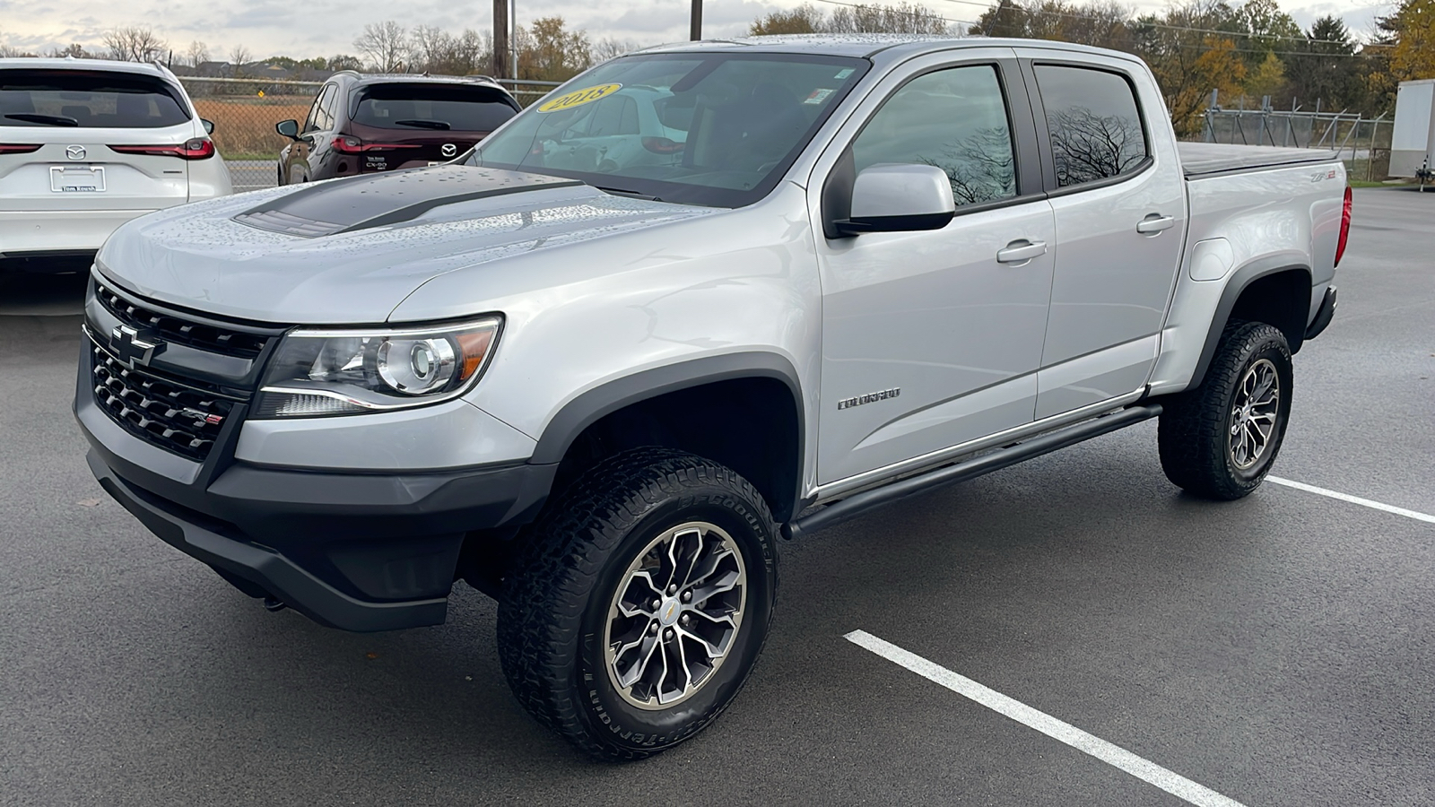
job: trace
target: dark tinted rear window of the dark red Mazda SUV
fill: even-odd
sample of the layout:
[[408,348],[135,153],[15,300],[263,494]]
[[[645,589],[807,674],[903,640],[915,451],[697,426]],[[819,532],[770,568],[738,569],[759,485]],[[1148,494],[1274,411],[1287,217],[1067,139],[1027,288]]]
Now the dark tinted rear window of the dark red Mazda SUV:
[[373,85],[359,90],[353,121],[382,129],[492,132],[517,115],[508,96],[462,85]]

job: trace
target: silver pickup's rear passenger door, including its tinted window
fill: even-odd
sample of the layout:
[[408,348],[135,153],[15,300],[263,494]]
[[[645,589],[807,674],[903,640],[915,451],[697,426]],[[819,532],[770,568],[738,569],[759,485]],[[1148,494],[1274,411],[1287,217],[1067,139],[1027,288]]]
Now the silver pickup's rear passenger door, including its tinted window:
[[1187,214],[1175,144],[1158,136],[1170,131],[1161,121],[1165,106],[1141,67],[1114,57],[1065,62],[1030,53],[1025,67],[1039,99],[1036,123],[1062,246],[1038,379],[1040,419],[1147,383]]

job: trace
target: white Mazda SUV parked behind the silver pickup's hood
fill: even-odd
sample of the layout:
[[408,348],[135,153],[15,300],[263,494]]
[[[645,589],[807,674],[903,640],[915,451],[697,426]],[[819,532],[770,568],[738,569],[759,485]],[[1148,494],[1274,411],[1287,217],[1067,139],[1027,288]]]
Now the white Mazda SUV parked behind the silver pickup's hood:
[[158,65],[0,59],[0,269],[88,269],[125,221],[232,192],[212,128]]

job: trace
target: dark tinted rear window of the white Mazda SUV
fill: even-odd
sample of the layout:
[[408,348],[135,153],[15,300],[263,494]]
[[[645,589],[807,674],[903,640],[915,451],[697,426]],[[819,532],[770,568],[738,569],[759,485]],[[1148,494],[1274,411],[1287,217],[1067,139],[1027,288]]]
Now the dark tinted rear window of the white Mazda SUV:
[[158,79],[89,70],[0,70],[0,126],[156,129],[189,115]]

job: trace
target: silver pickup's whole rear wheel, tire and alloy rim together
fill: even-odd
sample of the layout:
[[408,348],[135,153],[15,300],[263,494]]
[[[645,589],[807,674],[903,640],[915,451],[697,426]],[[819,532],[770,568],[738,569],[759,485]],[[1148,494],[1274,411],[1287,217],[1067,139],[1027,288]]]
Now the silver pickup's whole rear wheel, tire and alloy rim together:
[[1233,323],[1201,386],[1161,414],[1161,468],[1187,493],[1231,501],[1270,472],[1290,419],[1290,346],[1274,326]]

